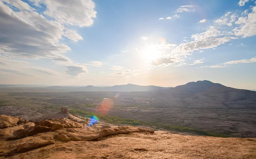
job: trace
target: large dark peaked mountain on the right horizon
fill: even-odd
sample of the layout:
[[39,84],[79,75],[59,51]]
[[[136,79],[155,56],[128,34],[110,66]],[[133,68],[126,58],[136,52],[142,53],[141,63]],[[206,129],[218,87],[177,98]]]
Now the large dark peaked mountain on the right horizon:
[[256,108],[255,91],[226,87],[207,80],[153,91],[148,96],[157,99],[151,104],[160,106],[183,103],[186,107]]

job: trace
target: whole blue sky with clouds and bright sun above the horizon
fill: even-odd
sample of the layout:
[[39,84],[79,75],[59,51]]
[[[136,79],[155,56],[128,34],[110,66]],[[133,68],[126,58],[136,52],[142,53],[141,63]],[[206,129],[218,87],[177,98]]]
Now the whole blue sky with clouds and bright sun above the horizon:
[[0,0],[0,84],[256,90],[254,0]]

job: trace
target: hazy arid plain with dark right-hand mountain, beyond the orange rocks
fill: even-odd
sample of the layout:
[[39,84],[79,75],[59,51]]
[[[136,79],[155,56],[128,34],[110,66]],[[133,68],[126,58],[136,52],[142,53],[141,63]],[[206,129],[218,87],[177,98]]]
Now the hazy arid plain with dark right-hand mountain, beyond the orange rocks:
[[[122,85],[120,89],[126,86]],[[202,130],[231,137],[256,137],[254,91],[225,87],[210,81],[144,92],[86,92],[73,87],[69,89],[2,87],[0,114],[33,119],[57,113],[62,106],[96,113],[102,101],[109,99],[112,105],[106,115],[136,122],[145,121],[148,122],[146,126],[151,128],[178,131],[192,128],[194,132]],[[119,88],[115,86],[115,89]],[[91,114],[80,112],[80,115]]]

